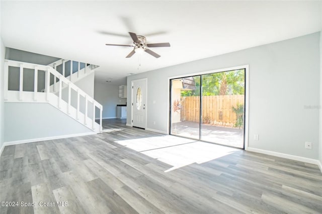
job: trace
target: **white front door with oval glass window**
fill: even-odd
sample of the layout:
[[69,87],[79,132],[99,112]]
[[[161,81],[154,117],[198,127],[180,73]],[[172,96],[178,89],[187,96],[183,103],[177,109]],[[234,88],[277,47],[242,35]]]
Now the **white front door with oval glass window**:
[[132,81],[132,126],[146,128],[146,79]]

